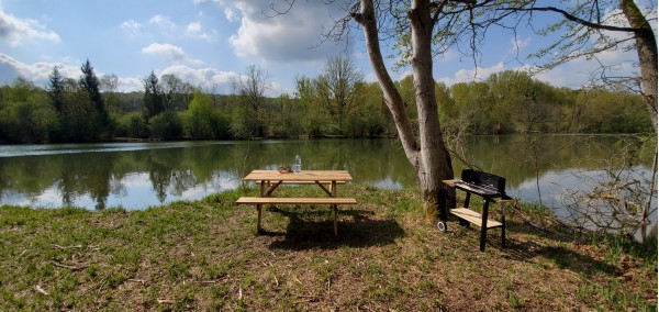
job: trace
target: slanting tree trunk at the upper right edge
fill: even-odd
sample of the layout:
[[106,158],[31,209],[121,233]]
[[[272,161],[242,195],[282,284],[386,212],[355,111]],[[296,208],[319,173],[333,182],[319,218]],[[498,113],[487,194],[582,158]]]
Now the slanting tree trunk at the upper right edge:
[[652,26],[645,19],[634,0],[621,0],[621,10],[629,25],[637,31],[636,52],[640,65],[643,98],[657,133],[657,40]]

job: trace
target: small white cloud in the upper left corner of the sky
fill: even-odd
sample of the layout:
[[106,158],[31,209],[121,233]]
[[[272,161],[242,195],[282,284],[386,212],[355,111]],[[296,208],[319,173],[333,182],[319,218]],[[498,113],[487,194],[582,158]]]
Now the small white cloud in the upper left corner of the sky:
[[46,25],[32,19],[19,19],[4,13],[0,7],[0,38],[10,46],[18,46],[24,41],[45,40],[59,42],[59,35],[48,30]]

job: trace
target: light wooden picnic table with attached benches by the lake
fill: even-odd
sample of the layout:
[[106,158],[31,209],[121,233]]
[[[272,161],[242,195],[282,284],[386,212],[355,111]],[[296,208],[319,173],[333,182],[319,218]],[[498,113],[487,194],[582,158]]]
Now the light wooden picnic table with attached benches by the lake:
[[[334,235],[338,236],[337,213],[339,204],[356,204],[355,198],[337,197],[336,186],[353,180],[346,170],[302,170],[301,172],[280,172],[279,170],[253,170],[243,178],[259,186],[258,197],[242,197],[236,203],[255,204],[257,210],[256,231],[261,231],[261,209],[264,204],[330,204],[334,210]],[[278,198],[272,193],[281,185],[316,185],[327,197]]]

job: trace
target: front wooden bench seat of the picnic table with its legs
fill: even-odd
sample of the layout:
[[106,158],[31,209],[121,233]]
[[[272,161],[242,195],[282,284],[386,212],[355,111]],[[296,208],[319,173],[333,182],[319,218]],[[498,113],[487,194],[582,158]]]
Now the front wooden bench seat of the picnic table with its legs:
[[330,204],[334,209],[334,236],[338,236],[337,213],[338,204],[356,204],[355,198],[279,198],[279,197],[242,197],[237,204],[256,204],[257,221],[256,232],[260,233],[261,205],[264,204]]

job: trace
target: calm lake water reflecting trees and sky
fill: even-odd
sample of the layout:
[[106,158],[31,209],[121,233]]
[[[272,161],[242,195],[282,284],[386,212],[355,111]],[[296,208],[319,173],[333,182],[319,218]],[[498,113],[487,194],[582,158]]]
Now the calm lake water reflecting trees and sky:
[[[482,170],[506,177],[511,196],[541,201],[560,215],[561,194],[588,188],[587,180],[616,157],[617,141],[474,136],[465,141],[459,154]],[[0,204],[141,210],[235,189],[249,170],[289,166],[295,154],[302,156],[303,169],[346,169],[355,183],[384,189],[416,186],[395,140],[5,145],[0,146]],[[645,159],[638,175],[650,178],[650,161]],[[463,165],[458,157],[454,164],[459,175]]]

